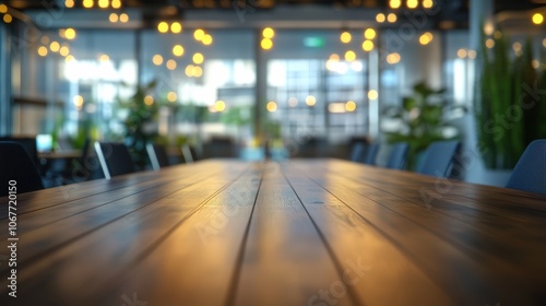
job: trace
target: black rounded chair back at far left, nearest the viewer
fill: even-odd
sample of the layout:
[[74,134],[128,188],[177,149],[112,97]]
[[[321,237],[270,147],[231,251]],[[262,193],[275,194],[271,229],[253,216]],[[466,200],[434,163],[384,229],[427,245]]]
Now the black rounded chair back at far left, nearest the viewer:
[[16,181],[17,193],[44,189],[31,155],[20,143],[0,141],[0,197],[9,195],[10,181]]

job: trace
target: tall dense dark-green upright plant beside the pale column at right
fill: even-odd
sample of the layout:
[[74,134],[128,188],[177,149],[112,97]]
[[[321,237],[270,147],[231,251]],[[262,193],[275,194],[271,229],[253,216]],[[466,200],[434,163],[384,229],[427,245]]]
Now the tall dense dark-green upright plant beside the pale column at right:
[[531,37],[515,55],[502,31],[482,37],[474,102],[478,148],[486,167],[511,169],[531,141],[546,138],[546,71],[533,67]]

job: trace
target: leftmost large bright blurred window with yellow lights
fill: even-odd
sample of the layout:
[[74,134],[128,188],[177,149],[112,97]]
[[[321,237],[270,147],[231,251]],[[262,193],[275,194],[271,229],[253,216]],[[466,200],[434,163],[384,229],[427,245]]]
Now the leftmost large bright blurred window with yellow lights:
[[54,133],[72,140],[84,128],[99,138],[122,133],[115,119],[116,103],[130,97],[136,84],[135,34],[76,33],[78,39],[67,43],[62,30],[47,31],[15,52],[13,94],[22,101],[14,107],[15,132]]

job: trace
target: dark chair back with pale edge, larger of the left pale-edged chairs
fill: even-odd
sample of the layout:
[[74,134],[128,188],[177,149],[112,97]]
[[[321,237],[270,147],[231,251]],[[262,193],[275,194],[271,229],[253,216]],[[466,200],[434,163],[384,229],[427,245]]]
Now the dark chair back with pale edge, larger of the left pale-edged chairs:
[[95,152],[106,179],[134,172],[131,154],[123,143],[97,141]]

